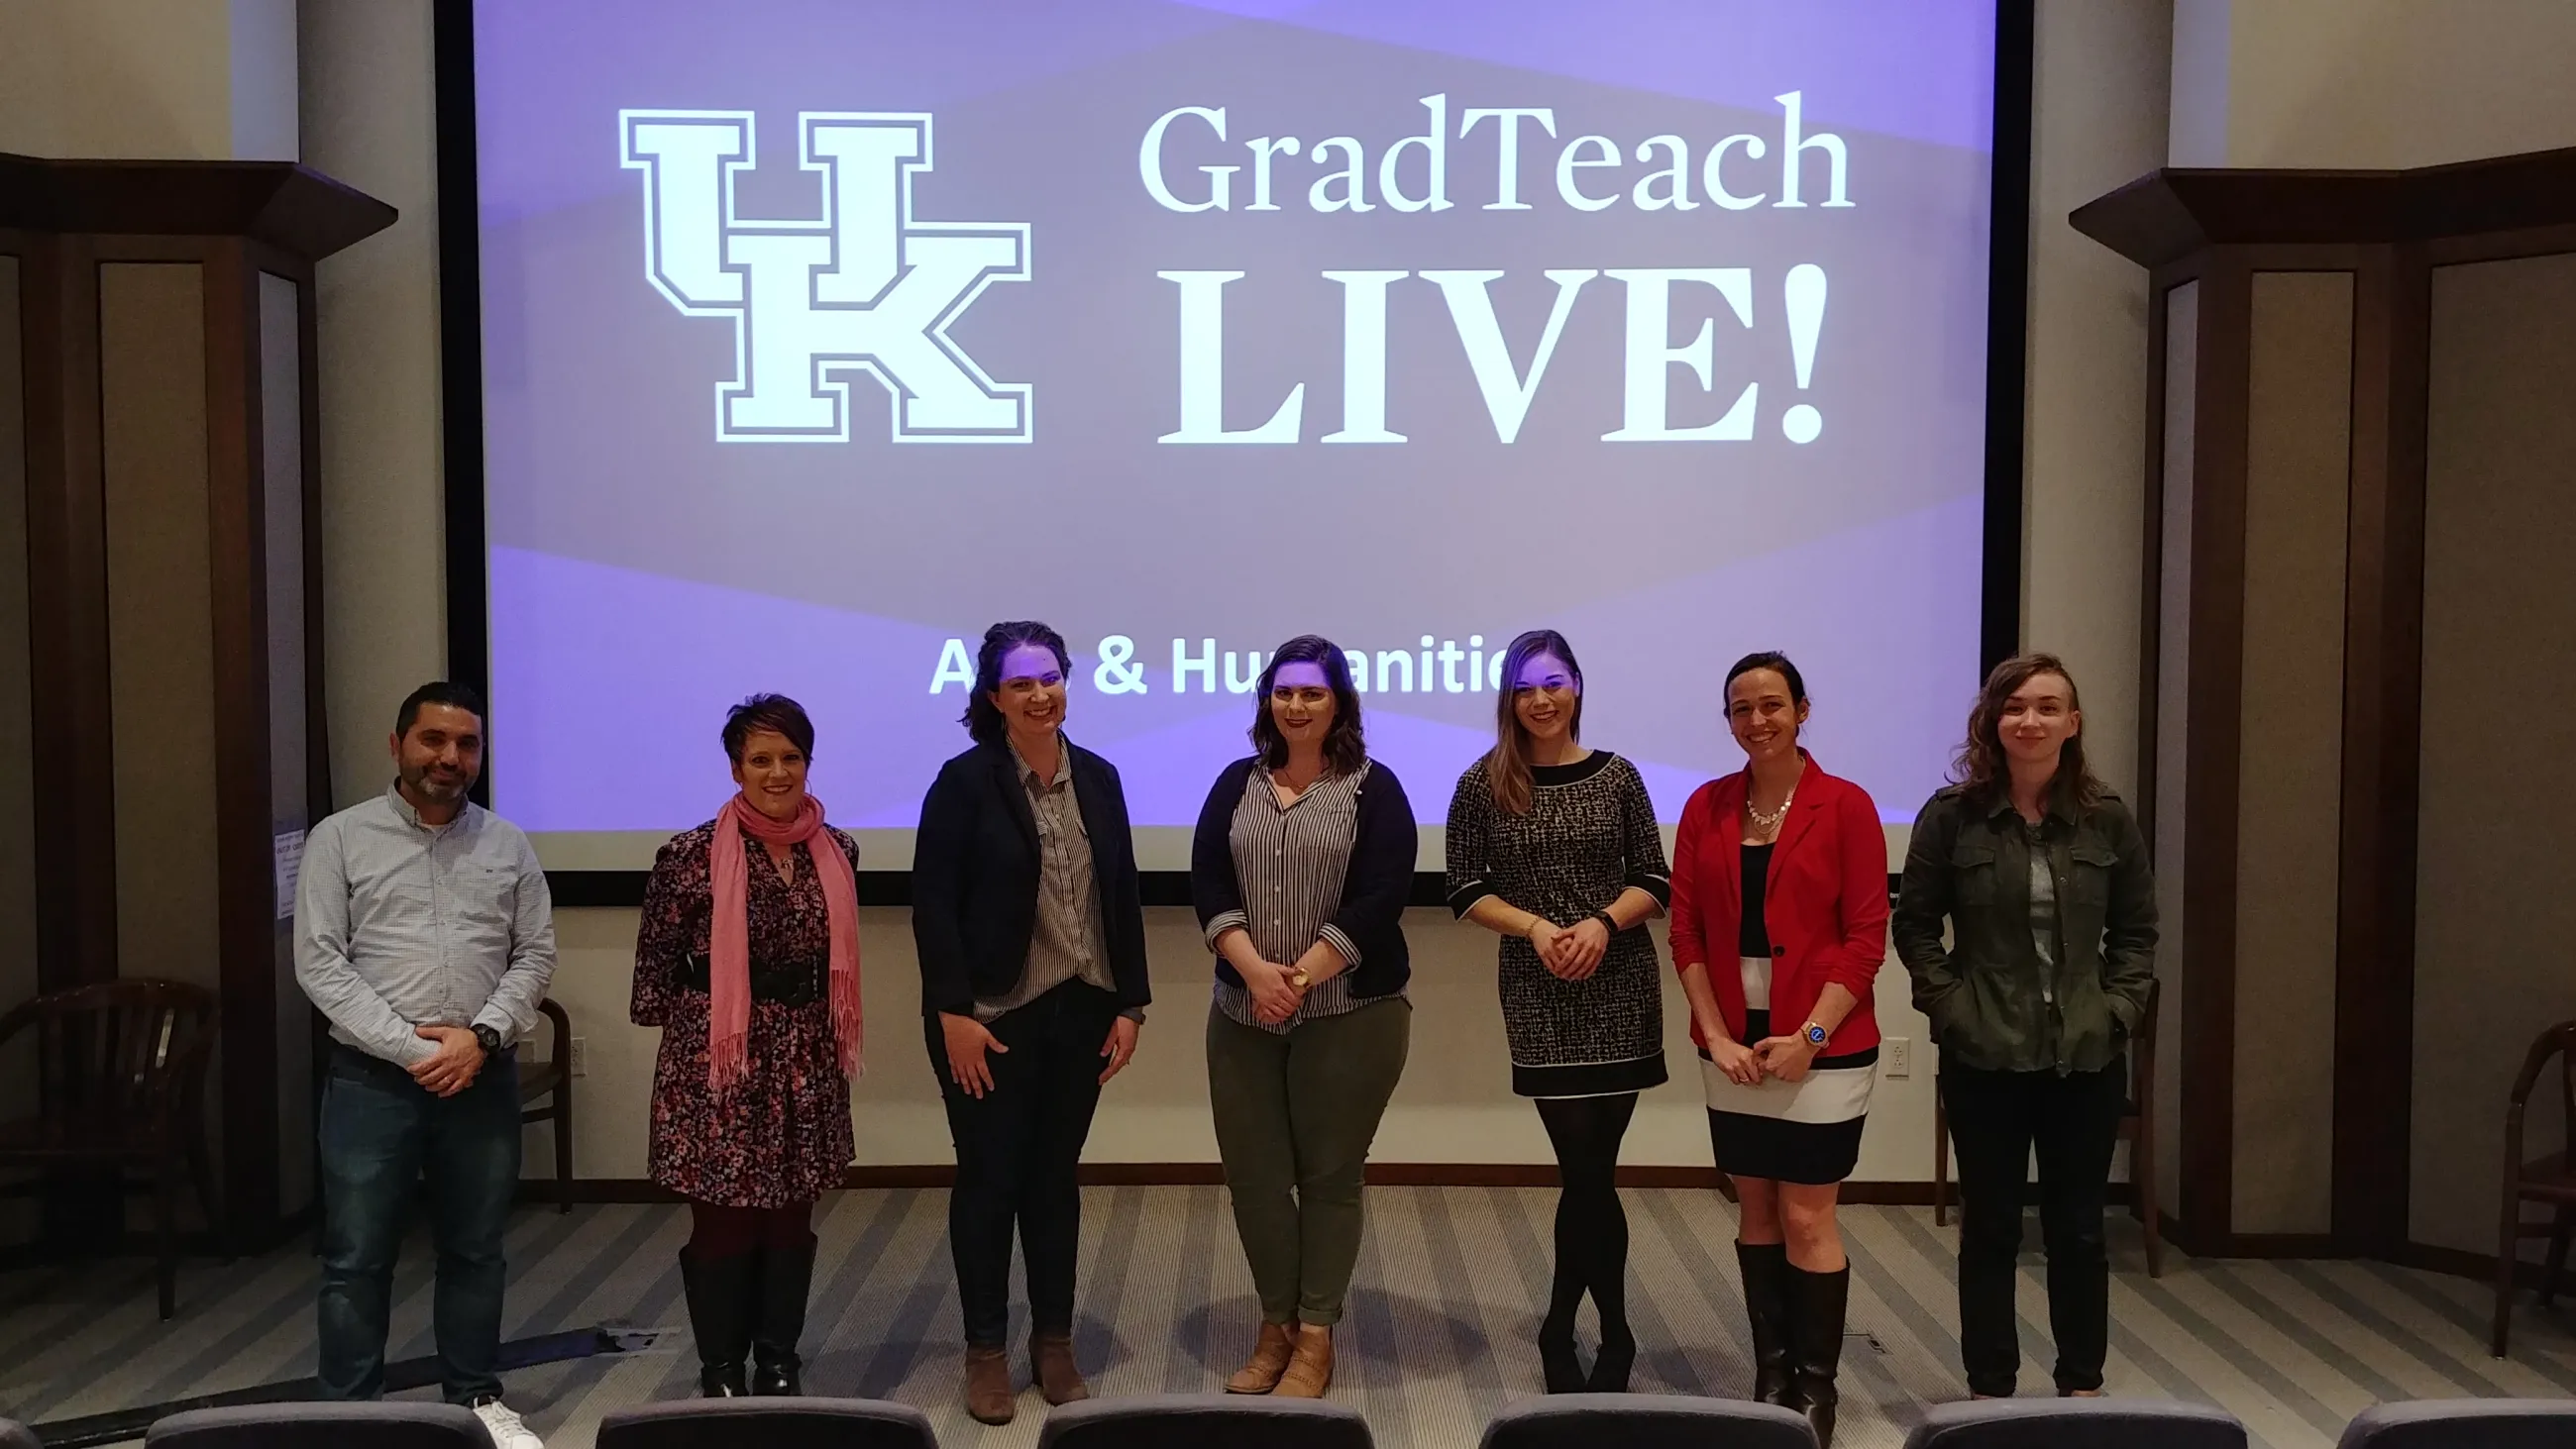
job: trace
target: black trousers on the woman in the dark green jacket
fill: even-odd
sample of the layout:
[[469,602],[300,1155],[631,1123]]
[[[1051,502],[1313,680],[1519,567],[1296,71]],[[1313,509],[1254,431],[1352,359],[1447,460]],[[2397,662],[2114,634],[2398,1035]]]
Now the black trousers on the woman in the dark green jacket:
[[2102,1210],[2128,1102],[2128,1063],[2066,1076],[1942,1066],[1940,1091],[1958,1145],[1958,1349],[1968,1390],[2009,1395],[2022,1369],[2012,1282],[2032,1148],[2040,1161],[2058,1390],[2102,1387],[2102,1356],[2110,1351]]

